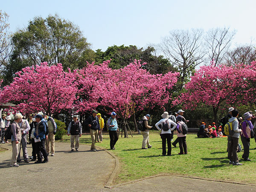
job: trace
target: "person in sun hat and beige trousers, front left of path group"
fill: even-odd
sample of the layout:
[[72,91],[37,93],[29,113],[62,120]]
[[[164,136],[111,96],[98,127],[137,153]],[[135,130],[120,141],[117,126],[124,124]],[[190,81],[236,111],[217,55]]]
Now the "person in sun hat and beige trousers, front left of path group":
[[20,131],[20,125],[18,124],[21,121],[22,117],[20,114],[16,114],[14,116],[14,123],[11,125],[12,130],[12,160],[10,163],[10,166],[12,167],[18,167],[19,164],[17,164],[17,157],[20,149],[20,140],[21,140],[21,131]]

